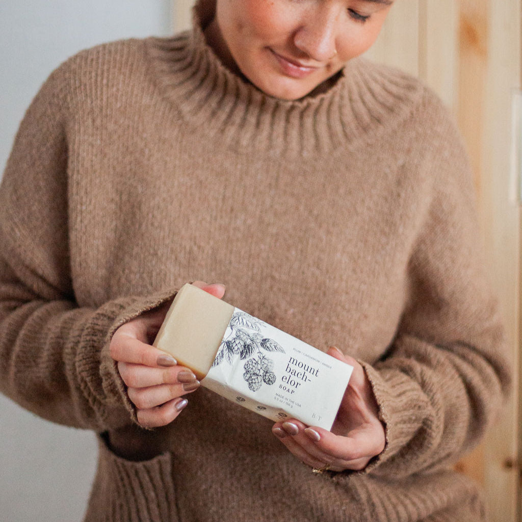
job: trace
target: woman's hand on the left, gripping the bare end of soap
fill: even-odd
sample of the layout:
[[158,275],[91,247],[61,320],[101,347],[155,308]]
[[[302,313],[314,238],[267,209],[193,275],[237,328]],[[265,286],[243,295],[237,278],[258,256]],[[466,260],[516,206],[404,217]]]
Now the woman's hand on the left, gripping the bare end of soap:
[[[219,299],[225,291],[222,284],[203,281],[193,284]],[[127,385],[128,397],[136,406],[138,422],[146,428],[172,422],[188,403],[183,396],[199,387],[191,370],[151,346],[169,306],[170,303],[165,303],[122,325],[115,331],[109,347]]]

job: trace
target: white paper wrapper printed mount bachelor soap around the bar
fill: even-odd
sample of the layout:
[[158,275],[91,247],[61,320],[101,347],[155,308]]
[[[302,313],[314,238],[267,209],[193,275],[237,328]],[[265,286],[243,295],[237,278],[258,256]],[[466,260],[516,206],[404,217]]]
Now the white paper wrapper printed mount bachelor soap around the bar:
[[353,367],[235,309],[201,385],[273,421],[331,429]]

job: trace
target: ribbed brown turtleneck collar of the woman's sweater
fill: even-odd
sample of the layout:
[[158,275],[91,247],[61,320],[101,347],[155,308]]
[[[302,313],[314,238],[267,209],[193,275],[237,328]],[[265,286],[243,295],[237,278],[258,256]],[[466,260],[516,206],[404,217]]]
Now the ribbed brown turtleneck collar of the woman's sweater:
[[147,41],[160,89],[187,122],[223,143],[306,155],[372,140],[409,114],[419,82],[362,58],[350,61],[327,91],[300,100],[268,96],[225,67],[207,45],[204,28],[215,0],[193,8],[192,31]]

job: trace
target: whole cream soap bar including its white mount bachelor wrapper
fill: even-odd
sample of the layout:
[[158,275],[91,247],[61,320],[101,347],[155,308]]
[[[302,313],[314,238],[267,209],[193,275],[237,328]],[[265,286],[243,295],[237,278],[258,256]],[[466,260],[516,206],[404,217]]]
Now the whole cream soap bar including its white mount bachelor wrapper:
[[353,370],[191,284],[177,293],[153,344],[244,408],[326,430]]

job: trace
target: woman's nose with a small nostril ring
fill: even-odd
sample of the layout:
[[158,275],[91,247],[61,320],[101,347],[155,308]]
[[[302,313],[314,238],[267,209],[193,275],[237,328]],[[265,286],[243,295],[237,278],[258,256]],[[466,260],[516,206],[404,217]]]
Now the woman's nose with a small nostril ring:
[[317,62],[326,62],[337,54],[336,38],[341,11],[339,7],[317,4],[303,17],[294,33],[296,48]]

